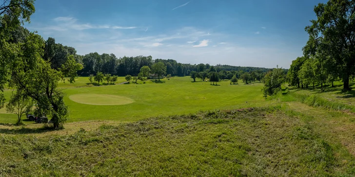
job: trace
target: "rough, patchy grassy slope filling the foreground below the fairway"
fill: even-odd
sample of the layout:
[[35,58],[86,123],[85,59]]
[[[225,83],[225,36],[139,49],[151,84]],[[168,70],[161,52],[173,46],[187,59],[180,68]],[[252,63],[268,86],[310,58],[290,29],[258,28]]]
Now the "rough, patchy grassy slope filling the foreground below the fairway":
[[2,134],[0,175],[355,175],[354,157],[320,134],[312,117],[278,108],[150,118],[41,138]]

